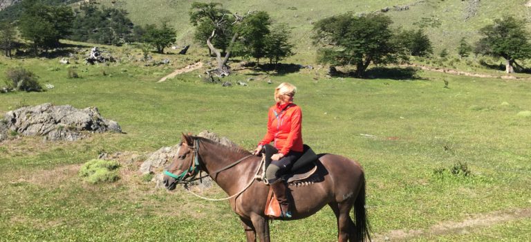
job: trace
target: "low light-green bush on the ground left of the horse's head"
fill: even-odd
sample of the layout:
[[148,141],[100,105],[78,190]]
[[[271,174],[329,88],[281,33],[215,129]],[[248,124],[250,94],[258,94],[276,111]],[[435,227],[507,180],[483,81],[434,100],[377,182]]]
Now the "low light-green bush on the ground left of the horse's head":
[[118,176],[120,164],[114,160],[90,160],[80,169],[80,177],[88,183],[112,183],[120,178]]

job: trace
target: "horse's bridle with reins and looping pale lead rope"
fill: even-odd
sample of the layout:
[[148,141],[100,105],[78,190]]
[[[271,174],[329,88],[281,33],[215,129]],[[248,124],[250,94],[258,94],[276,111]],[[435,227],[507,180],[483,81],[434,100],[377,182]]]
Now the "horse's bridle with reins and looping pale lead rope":
[[[194,140],[194,146],[193,147],[189,147],[189,149],[194,150],[194,152],[192,153],[193,157],[191,159],[192,160],[192,165],[190,165],[189,169],[183,171],[183,173],[181,173],[179,175],[175,175],[175,174],[173,174],[173,173],[171,173],[171,172],[169,172],[167,170],[164,170],[164,174],[166,174],[167,176],[171,176],[172,178],[175,178],[174,183],[183,184],[185,186],[185,189],[188,192],[190,192],[191,194],[194,194],[194,192],[189,190],[188,185],[190,183],[192,183],[193,181],[201,180],[202,178],[205,178],[207,176],[218,174],[219,172],[225,171],[226,169],[230,169],[231,167],[234,167],[235,165],[238,165],[243,160],[253,156],[252,154],[250,154],[250,155],[245,156],[245,157],[243,157],[243,158],[241,158],[239,160],[236,160],[235,162],[230,163],[229,165],[226,165],[225,167],[222,167],[221,169],[218,169],[218,170],[216,170],[214,172],[206,174],[205,176],[200,176],[198,178],[192,178],[192,177],[196,176],[196,174],[201,173],[201,168],[200,168],[200,164],[199,164],[199,140]],[[243,193],[246,189],[248,189],[252,185],[252,183],[254,182],[254,179],[257,178],[257,176],[258,176],[258,174],[260,172],[260,168],[262,166],[262,163],[264,161],[265,161],[264,159],[261,160],[261,163],[258,166],[257,173],[255,174],[255,176],[253,176],[253,178],[250,180],[248,185],[246,185],[240,192],[238,192],[238,193],[236,193],[236,194],[234,194],[232,196],[229,196],[227,198],[221,198],[221,199],[205,198],[205,197],[200,196],[198,194],[194,194],[194,196],[197,196],[198,198],[203,198],[203,199],[208,200],[208,201],[224,201],[224,200],[233,198],[234,196],[238,196],[239,194]],[[191,179],[185,180],[185,176],[187,174],[189,175],[189,177]]]

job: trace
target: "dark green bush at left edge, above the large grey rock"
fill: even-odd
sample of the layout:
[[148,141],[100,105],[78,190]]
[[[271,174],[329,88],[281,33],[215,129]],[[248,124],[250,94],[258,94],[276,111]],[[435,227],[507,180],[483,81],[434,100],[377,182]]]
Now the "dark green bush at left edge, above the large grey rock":
[[8,80],[6,84],[9,89],[19,91],[42,91],[41,84],[37,81],[37,76],[22,67],[9,68],[6,71]]

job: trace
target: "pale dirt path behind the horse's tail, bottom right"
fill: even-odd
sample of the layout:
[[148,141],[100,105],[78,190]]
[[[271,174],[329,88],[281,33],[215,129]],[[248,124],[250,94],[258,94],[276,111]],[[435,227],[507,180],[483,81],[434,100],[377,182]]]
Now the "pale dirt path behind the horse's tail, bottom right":
[[392,230],[383,234],[375,234],[372,239],[373,241],[408,241],[417,237],[470,232],[522,218],[531,218],[531,207],[489,214],[476,214],[465,221],[447,221],[431,226],[427,230]]

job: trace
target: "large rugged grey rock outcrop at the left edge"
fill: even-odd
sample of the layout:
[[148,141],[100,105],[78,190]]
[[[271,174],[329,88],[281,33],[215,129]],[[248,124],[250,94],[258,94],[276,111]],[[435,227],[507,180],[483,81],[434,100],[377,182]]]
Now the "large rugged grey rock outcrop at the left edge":
[[[120,125],[102,118],[96,107],[79,110],[70,105],[54,106],[46,103],[9,111],[0,122],[0,140],[7,138],[8,131],[23,136],[44,136],[46,140],[69,141],[83,138],[86,132],[122,133]],[[2,127],[5,131],[2,131]]]

